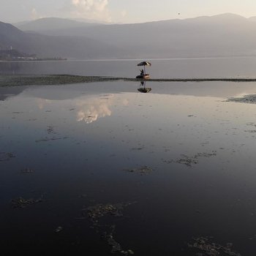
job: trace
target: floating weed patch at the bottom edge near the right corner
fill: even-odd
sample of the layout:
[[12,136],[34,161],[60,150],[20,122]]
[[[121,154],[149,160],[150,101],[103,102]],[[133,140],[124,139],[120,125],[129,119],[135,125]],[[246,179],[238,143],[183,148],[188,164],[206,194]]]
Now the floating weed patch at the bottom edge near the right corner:
[[208,255],[208,256],[219,256],[219,255],[229,255],[229,256],[241,256],[238,252],[233,252],[231,250],[233,244],[227,243],[225,246],[220,244],[211,243],[210,238],[200,237],[193,238],[192,244],[187,244],[189,248],[198,249],[200,252],[197,255]]

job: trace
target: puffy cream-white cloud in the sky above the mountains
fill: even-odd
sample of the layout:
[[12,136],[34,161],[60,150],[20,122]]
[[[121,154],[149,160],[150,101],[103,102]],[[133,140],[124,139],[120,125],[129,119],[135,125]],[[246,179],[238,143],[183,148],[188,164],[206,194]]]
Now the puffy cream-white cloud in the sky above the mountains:
[[108,0],[71,0],[71,4],[76,18],[111,21]]

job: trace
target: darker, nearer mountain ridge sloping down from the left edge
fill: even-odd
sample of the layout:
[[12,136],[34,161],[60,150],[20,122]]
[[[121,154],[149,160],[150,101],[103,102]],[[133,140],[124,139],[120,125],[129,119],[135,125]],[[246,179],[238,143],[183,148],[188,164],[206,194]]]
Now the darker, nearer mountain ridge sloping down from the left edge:
[[117,58],[123,53],[108,43],[86,37],[48,36],[25,33],[7,23],[0,22],[1,48],[37,54],[39,57],[62,57],[70,59]]

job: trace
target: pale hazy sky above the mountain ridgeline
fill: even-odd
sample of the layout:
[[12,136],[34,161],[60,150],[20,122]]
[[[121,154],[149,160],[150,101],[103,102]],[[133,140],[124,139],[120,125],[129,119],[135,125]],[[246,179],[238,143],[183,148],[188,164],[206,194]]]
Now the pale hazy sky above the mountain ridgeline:
[[[255,0],[0,0],[0,21],[45,17],[138,23],[233,12],[256,15]],[[180,14],[179,14],[180,13]]]

